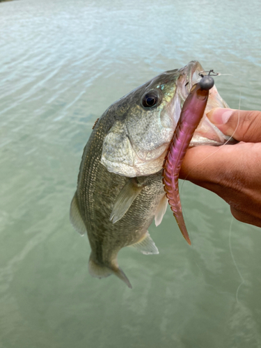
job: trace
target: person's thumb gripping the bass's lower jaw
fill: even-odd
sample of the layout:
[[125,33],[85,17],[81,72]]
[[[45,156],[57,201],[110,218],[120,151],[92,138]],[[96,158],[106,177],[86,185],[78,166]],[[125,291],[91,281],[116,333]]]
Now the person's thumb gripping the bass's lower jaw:
[[216,108],[207,117],[223,134],[237,141],[261,142],[261,111]]

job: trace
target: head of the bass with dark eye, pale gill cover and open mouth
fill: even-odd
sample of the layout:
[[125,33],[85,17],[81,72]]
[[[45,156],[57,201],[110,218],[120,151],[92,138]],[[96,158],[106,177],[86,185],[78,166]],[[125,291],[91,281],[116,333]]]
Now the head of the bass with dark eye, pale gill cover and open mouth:
[[[184,100],[202,78],[202,71],[200,63],[192,61],[182,69],[163,72],[111,106],[114,122],[104,138],[101,158],[109,172],[136,177],[161,170]],[[226,141],[206,117],[214,107],[228,107],[215,86],[209,90],[205,114],[191,146]]]

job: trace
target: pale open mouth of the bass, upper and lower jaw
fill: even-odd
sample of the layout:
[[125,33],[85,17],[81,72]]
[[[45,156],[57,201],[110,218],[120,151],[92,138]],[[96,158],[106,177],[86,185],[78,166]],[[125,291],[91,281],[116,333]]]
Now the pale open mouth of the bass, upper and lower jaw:
[[[194,84],[197,84],[202,75],[207,75],[202,65],[198,61],[191,61],[184,68],[179,70],[180,77],[177,79],[177,97],[180,100],[180,107],[182,108],[184,101],[189,95]],[[230,139],[230,136],[225,136],[212,122],[207,118],[207,113],[214,108],[228,108],[228,104],[221,98],[219,92],[214,85],[209,90],[209,97],[207,100],[207,106],[198,128],[193,134],[193,138],[189,147],[197,145],[222,145],[223,143],[235,143],[234,139]],[[174,118],[177,120],[180,115],[175,115]]]

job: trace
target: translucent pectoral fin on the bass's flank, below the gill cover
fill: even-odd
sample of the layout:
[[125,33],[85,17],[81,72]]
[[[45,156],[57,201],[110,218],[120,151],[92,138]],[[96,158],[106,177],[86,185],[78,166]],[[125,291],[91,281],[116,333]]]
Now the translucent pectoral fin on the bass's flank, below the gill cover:
[[116,198],[111,212],[110,221],[112,220],[113,223],[116,223],[125,215],[136,196],[141,192],[142,188],[143,186],[139,185],[135,179],[127,181]]

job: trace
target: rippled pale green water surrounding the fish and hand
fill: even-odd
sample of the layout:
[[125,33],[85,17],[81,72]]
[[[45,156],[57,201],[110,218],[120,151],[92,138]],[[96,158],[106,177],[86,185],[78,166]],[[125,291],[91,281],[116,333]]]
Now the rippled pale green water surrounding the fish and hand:
[[[189,182],[150,226],[159,255],[124,248],[88,274],[69,222],[84,145],[115,100],[198,60],[237,109],[261,109],[260,1],[0,4],[0,348],[261,347],[261,231]],[[230,223],[232,220],[232,228]],[[232,251],[232,253],[231,253]]]

